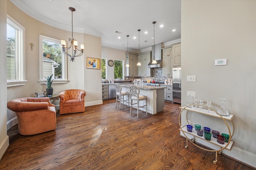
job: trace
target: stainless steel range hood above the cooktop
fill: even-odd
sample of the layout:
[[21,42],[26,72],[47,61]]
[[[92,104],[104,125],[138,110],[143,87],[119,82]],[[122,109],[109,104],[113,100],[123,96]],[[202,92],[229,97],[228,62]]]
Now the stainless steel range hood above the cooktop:
[[159,44],[152,45],[152,57],[151,57],[151,60],[152,61],[154,60],[154,50],[155,50],[155,59],[156,59],[156,63],[157,64],[152,64],[152,62],[150,62],[148,64],[148,68],[163,67],[163,61],[162,61],[162,48],[163,47],[164,47],[164,43],[159,43]]

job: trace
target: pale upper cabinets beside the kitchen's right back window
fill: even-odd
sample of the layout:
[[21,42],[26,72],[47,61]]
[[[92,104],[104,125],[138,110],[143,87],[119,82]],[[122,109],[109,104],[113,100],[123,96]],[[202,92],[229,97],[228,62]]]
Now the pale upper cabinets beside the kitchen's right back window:
[[[126,53],[128,55],[129,67],[126,67],[126,76],[137,77],[138,76],[138,55],[132,53]],[[127,58],[126,58],[127,59]],[[126,65],[126,64],[125,64]]]

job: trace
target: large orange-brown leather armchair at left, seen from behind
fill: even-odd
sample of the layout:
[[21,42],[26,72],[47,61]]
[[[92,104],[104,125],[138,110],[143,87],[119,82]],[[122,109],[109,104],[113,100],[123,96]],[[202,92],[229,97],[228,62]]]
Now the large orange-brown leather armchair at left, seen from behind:
[[21,135],[35,135],[56,129],[56,110],[49,98],[18,98],[7,103],[15,111]]

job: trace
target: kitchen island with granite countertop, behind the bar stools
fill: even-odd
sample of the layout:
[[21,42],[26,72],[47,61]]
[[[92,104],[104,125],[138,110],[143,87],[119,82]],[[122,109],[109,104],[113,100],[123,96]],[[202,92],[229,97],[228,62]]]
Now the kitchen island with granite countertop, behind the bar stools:
[[[120,84],[122,91],[130,92],[130,86],[134,84]],[[148,113],[156,114],[164,110],[164,89],[166,87],[161,86],[140,86],[140,95],[148,97]],[[127,96],[124,96],[127,99]],[[129,101],[130,102],[130,101]],[[140,101],[140,106],[145,105],[146,101]],[[128,102],[124,102],[128,105]],[[146,111],[146,108],[139,108],[142,111]]]

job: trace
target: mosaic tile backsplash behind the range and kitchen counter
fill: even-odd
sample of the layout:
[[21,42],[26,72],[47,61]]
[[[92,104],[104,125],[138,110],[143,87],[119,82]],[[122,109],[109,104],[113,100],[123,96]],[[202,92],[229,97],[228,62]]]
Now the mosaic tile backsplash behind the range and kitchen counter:
[[141,78],[142,80],[152,79],[155,81],[164,81],[165,79],[171,79],[172,77],[163,76],[163,68],[153,68],[153,77],[124,77],[125,80],[134,80],[135,78]]

